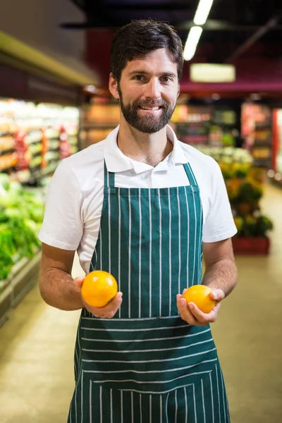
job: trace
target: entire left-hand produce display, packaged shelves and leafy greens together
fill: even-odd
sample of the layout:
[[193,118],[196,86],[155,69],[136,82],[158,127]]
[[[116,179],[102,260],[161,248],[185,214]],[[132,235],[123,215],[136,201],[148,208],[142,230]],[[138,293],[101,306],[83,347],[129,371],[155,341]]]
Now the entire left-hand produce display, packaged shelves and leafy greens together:
[[79,118],[78,107],[0,98],[0,293],[39,252],[44,186],[78,151]]

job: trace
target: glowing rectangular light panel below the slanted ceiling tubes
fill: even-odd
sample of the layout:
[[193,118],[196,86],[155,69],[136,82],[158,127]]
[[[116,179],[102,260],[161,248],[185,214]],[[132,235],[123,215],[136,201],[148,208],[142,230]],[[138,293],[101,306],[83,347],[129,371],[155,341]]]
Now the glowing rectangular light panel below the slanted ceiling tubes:
[[216,63],[192,63],[190,80],[193,82],[234,82],[235,66]]

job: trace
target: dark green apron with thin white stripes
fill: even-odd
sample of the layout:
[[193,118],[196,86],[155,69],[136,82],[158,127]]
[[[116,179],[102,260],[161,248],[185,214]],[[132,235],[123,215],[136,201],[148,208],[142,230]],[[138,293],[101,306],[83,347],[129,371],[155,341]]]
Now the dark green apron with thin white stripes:
[[228,402],[208,326],[180,319],[176,294],[202,281],[202,204],[190,185],[117,188],[104,203],[90,271],[123,292],[113,319],[82,309],[68,423],[227,423]]

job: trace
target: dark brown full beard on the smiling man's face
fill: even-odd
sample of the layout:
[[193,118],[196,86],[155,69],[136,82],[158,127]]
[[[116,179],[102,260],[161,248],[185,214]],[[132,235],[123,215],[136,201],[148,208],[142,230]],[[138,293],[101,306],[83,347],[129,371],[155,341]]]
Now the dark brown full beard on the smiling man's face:
[[[142,133],[153,134],[159,132],[170,120],[173,111],[176,107],[176,104],[171,105],[166,102],[164,99],[160,101],[147,101],[141,102],[136,100],[132,104],[123,103],[123,94],[118,88],[119,101],[121,105],[121,111],[125,118],[125,121],[129,123],[133,128],[139,130]],[[139,109],[140,107],[161,107],[161,114],[159,116],[154,116],[154,114],[144,114],[140,116]]]

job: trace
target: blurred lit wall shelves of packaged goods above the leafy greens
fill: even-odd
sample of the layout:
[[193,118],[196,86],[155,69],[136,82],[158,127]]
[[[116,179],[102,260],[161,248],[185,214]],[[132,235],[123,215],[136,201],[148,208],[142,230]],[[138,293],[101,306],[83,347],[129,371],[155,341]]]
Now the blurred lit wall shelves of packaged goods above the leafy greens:
[[79,109],[0,99],[0,172],[37,185],[78,151]]

